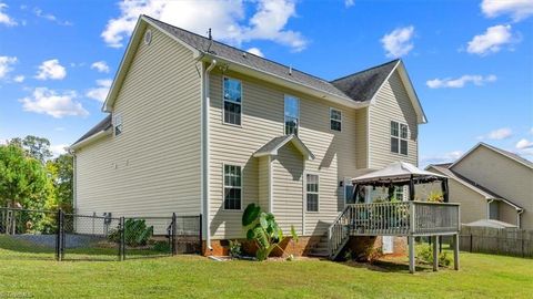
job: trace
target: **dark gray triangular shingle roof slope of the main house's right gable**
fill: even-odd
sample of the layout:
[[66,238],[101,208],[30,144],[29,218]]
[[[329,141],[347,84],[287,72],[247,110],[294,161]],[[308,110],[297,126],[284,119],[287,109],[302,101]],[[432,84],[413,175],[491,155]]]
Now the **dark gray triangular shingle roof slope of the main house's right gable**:
[[399,60],[393,60],[381,65],[346,75],[331,83],[356,102],[372,100],[380,86],[392,72]]

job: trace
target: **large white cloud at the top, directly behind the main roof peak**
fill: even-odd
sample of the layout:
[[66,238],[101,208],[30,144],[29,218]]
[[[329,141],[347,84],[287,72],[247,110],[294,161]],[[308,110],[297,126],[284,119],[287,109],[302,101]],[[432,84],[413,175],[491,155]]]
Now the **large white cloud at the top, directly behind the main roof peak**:
[[[296,17],[295,0],[257,0],[247,2],[255,8],[247,20],[243,0],[222,1],[134,1],[120,2],[121,16],[108,21],[101,37],[109,47],[120,48],[134,29],[139,14],[144,13],[163,22],[199,34],[213,29],[213,38],[240,45],[251,40],[270,40],[301,51],[306,40],[300,32],[286,30],[290,18]],[[198,16],[204,16],[198,18]]]

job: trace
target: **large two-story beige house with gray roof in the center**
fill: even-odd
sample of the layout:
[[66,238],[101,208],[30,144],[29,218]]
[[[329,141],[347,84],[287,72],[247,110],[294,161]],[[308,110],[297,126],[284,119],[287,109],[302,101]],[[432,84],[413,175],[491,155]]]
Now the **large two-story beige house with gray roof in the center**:
[[250,203],[316,241],[350,178],[418,164],[426,122],[401,60],[326,81],[147,16],[103,111],[71,146],[77,212],[202,214],[207,254]]

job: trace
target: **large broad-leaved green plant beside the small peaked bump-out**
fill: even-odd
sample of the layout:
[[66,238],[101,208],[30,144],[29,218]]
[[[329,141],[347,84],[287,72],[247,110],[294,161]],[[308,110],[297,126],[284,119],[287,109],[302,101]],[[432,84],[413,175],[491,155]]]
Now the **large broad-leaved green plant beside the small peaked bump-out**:
[[280,247],[284,239],[283,231],[272,213],[261,212],[261,207],[252,203],[242,214],[242,226],[248,229],[247,239],[254,240],[258,246],[258,260],[265,260],[276,247],[283,250]]

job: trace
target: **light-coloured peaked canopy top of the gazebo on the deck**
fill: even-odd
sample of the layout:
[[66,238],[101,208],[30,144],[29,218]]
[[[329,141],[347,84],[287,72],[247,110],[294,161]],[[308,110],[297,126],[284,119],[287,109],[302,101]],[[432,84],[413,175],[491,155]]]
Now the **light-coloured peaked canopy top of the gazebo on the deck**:
[[420,169],[413,164],[405,162],[393,162],[382,169],[354,177],[352,178],[352,182],[354,184],[400,184],[408,183],[411,178],[428,183],[444,179],[446,176]]

